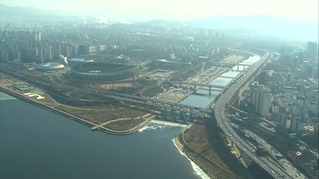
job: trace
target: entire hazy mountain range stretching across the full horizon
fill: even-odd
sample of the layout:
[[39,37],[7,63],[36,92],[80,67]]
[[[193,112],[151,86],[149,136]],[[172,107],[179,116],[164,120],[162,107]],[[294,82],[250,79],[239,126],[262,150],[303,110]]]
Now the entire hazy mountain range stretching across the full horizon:
[[[99,15],[95,14],[98,13]],[[10,7],[0,4],[1,23],[3,22],[37,22],[37,21],[79,21],[86,23],[125,23],[132,22],[121,17],[94,12],[95,15],[86,13],[72,14],[68,11],[47,11],[34,7]],[[124,15],[124,14],[121,14]],[[126,14],[130,18],[129,14]],[[132,17],[131,17],[132,18]],[[284,38],[298,38],[312,41],[319,41],[318,18],[281,18],[267,15],[250,16],[227,16],[202,18],[187,21],[152,20],[147,22],[137,22],[137,26],[152,28],[156,26],[198,26],[209,29],[240,29],[248,33],[258,33],[262,35],[273,35]]]

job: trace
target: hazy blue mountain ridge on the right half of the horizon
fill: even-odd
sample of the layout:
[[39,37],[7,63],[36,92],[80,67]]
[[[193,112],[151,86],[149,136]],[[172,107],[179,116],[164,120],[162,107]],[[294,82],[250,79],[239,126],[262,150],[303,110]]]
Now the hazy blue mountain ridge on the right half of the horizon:
[[308,39],[318,41],[318,18],[287,18],[267,15],[227,16],[202,18],[188,21],[152,20],[140,23],[152,26],[190,25],[210,29],[242,29],[262,35],[280,36],[283,38]]

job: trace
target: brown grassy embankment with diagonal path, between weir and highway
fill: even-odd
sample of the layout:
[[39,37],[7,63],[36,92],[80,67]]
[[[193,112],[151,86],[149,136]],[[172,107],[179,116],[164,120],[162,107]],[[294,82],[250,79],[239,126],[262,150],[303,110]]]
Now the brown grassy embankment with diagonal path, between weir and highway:
[[221,137],[217,127],[213,127],[213,125],[209,123],[198,121],[184,131],[185,142],[190,147],[214,161],[233,175],[225,172],[225,170],[193,152],[191,149],[184,147],[183,150],[185,154],[211,178],[245,178],[245,173],[242,170],[241,164],[236,157],[230,153],[229,148],[223,144],[227,139]]

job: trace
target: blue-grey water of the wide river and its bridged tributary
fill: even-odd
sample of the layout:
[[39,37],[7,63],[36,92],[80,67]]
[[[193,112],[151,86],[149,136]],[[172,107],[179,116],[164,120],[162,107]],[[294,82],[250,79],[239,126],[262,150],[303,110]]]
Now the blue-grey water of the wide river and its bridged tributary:
[[[238,70],[221,76],[235,77],[242,66]],[[231,80],[218,77],[210,84]],[[218,94],[198,89],[180,103],[206,107]],[[206,179],[174,146],[181,129],[150,123],[131,135],[109,135],[0,93],[0,178]]]

